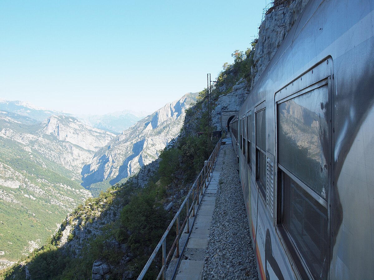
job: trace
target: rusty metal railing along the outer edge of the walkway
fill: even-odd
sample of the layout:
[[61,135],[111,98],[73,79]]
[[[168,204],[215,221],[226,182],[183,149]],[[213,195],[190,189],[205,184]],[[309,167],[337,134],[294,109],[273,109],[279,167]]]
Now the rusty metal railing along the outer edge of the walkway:
[[[203,195],[203,187],[206,189],[206,183],[211,176],[211,172],[213,172],[213,166],[215,163],[215,160],[217,159],[218,156],[218,151],[220,150],[221,147],[221,140],[218,141],[217,145],[215,146],[212,154],[209,156],[208,161],[206,161],[203,169],[200,171],[199,175],[197,175],[196,180],[194,181],[193,185],[191,186],[191,189],[189,190],[186,198],[183,200],[180,208],[178,209],[177,214],[175,214],[173,220],[169,224],[168,228],[166,229],[165,233],[161,237],[160,242],[157,244],[156,248],[154,249],[152,255],[148,259],[147,263],[145,264],[143,270],[141,271],[139,277],[137,280],[143,279],[145,276],[145,273],[147,273],[148,268],[152,264],[154,258],[156,257],[156,254],[159,252],[161,246],[162,246],[162,267],[160,269],[160,272],[157,276],[157,279],[160,279],[162,276],[162,279],[165,279],[165,272],[166,272],[166,264],[168,264],[171,256],[173,255],[174,249],[176,247],[176,254],[175,257],[179,258],[180,257],[180,252],[179,252],[179,239],[181,236],[181,231],[180,228],[184,228],[186,223],[187,223],[187,231],[186,233],[190,233],[190,216],[195,217],[195,205],[199,205],[199,195]],[[195,192],[196,189],[196,192]],[[190,196],[192,195],[192,205],[190,206]],[[179,221],[179,216],[183,210],[183,208],[186,207],[186,218],[183,221],[183,224],[181,227],[180,221]],[[176,223],[176,236],[173,245],[171,246],[171,249],[168,252],[168,255],[166,256],[166,237],[168,236],[169,232],[171,231],[171,228],[173,227],[175,221]]]

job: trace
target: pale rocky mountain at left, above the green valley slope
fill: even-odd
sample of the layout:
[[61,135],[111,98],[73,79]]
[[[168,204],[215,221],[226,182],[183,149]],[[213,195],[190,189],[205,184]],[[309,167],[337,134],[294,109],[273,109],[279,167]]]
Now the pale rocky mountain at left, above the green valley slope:
[[73,171],[80,178],[96,150],[115,137],[113,133],[82,124],[68,116],[50,116],[42,123],[27,117],[0,112],[0,139],[21,144],[23,150],[34,150],[50,161]]

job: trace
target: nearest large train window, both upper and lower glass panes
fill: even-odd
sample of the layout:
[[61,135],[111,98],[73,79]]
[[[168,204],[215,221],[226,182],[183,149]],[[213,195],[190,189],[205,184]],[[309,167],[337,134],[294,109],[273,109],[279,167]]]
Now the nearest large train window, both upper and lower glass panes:
[[315,279],[328,273],[328,100],[325,85],[278,103],[280,223]]

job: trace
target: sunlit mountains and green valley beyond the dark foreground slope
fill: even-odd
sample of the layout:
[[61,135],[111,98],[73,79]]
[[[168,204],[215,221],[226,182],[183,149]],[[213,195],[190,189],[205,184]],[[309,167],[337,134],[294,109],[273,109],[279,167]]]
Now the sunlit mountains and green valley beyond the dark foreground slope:
[[[91,192],[98,196],[155,160],[178,136],[195,97],[186,94],[140,121],[131,112],[108,114],[106,125],[103,116],[86,116],[85,124],[71,114],[0,100],[0,269],[44,243]],[[135,124],[118,134],[114,124],[126,114]]]

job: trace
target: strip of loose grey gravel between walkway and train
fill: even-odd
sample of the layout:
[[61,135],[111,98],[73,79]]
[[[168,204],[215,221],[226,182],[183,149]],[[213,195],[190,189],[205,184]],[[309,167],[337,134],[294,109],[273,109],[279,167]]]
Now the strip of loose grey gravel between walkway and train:
[[236,155],[232,145],[221,149],[224,157],[203,279],[258,279]]

